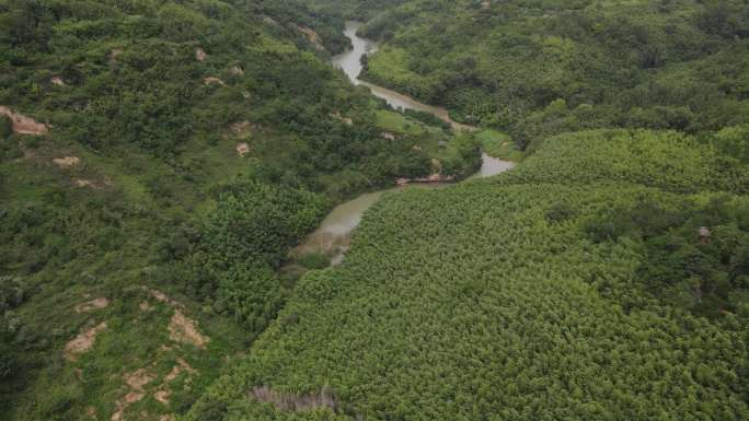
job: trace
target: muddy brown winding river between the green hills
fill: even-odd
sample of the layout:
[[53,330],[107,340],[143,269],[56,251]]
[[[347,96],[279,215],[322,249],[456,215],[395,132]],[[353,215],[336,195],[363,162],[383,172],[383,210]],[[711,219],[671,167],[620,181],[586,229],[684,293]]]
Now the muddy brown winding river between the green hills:
[[[449,122],[456,130],[475,130],[472,126],[462,125],[450,119],[450,116],[445,108],[422,104],[397,92],[359,80],[359,74],[362,69],[361,62],[359,61],[360,57],[365,54],[373,54],[378,48],[378,43],[361,38],[356,34],[361,25],[362,24],[359,22],[346,22],[345,35],[352,40],[354,48],[333,57],[331,60],[333,66],[343,69],[352,80],[352,83],[369,87],[372,95],[384,100],[396,109],[416,109],[430,113],[443,121]],[[515,163],[512,162],[497,160],[484,153],[481,169],[472,178],[496,175],[511,169],[514,166]],[[354,200],[342,203],[331,211],[323,220],[320,227],[313,232],[302,245],[297,247],[293,250],[293,254],[301,255],[313,252],[324,253],[332,256],[333,265],[337,265],[343,260],[344,253],[348,249],[352,233],[359,222],[361,222],[364,213],[374,204],[384,192],[397,192],[406,188],[439,188],[445,186],[446,185],[443,184],[412,184],[405,187],[395,187],[388,190],[361,195]]]

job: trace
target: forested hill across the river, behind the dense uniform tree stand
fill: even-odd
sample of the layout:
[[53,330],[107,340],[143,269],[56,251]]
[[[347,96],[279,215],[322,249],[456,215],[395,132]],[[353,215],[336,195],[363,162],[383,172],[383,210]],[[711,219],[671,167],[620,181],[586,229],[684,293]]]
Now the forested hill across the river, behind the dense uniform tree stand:
[[410,0],[361,33],[385,42],[366,79],[523,149],[571,130],[698,133],[749,115],[744,0]]

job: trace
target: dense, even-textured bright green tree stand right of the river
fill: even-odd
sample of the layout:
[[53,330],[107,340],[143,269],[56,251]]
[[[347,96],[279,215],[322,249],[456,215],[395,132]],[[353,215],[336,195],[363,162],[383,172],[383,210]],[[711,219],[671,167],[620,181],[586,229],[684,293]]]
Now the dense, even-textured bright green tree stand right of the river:
[[[385,198],[344,265],[308,274],[187,419],[334,418],[249,398],[260,385],[332,390],[346,420],[746,419],[746,325],[647,294],[625,306],[641,248],[583,230],[604,209],[671,209],[735,183],[683,136],[598,131],[553,139],[492,179]],[[560,202],[567,217],[550,221]]]

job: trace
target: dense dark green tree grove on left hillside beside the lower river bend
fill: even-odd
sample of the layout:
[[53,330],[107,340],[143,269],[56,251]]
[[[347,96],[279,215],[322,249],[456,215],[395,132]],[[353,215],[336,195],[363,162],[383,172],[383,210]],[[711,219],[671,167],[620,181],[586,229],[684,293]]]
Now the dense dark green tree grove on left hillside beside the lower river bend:
[[261,332],[285,295],[275,272],[326,209],[322,197],[303,190],[253,182],[228,186],[197,233],[183,230],[170,238],[172,254],[183,259],[178,278],[195,299]]

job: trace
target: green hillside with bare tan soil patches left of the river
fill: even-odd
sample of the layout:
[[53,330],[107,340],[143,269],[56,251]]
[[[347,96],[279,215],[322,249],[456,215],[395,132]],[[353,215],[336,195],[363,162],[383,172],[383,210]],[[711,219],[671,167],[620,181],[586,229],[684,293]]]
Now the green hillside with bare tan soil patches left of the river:
[[0,419],[185,412],[332,204],[476,167],[326,62],[342,30],[295,1],[0,0]]

